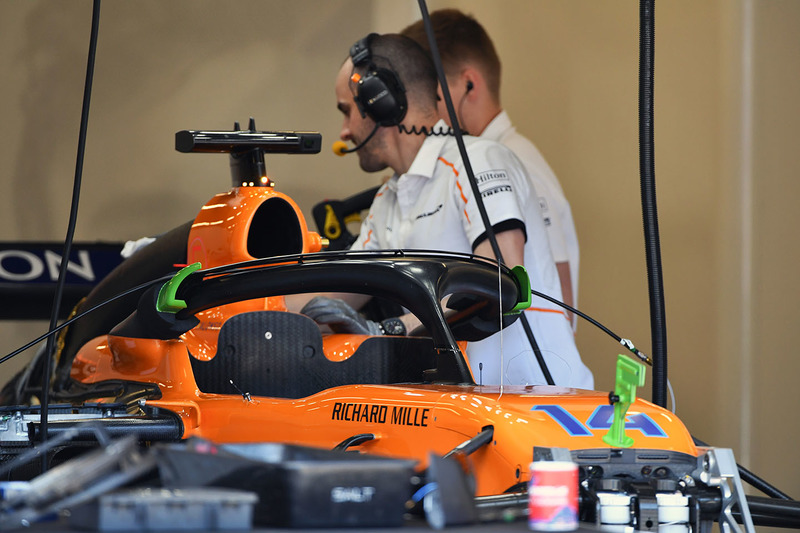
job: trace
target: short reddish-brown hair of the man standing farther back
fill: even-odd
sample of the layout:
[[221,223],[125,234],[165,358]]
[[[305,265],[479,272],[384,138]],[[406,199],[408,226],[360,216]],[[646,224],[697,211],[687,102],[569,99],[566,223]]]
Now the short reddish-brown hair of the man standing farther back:
[[[458,9],[439,9],[430,14],[436,47],[442,56],[445,74],[458,74],[465,63],[473,63],[486,79],[489,92],[500,101],[500,58],[489,34],[471,15]],[[428,35],[422,20],[400,32],[422,46],[430,55]]]

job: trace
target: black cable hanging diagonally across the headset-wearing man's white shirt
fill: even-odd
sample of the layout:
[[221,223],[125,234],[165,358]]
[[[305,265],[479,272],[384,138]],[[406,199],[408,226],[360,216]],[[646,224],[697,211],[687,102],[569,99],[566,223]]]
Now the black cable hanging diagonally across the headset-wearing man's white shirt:
[[[478,212],[481,215],[483,227],[486,228],[486,237],[492,246],[492,252],[494,252],[494,256],[499,263],[504,263],[505,261],[503,261],[503,254],[500,253],[500,246],[497,244],[497,238],[495,237],[494,230],[492,229],[489,215],[486,213],[486,206],[483,205],[483,197],[481,196],[480,189],[478,188],[478,183],[475,180],[475,174],[472,171],[472,164],[469,161],[467,148],[464,145],[464,135],[461,131],[461,127],[458,124],[456,110],[453,107],[453,99],[450,98],[450,89],[447,87],[447,77],[445,76],[444,68],[442,67],[442,58],[439,55],[439,47],[437,46],[436,38],[434,37],[433,25],[431,24],[431,17],[428,14],[428,7],[425,4],[425,0],[418,1],[419,9],[422,13],[422,22],[425,25],[425,33],[428,36],[428,44],[431,48],[431,58],[433,59],[433,64],[436,67],[436,75],[439,78],[439,84],[442,86],[444,103],[447,107],[447,114],[450,117],[450,123],[452,124],[453,131],[455,132],[458,151],[461,154],[461,160],[464,163],[464,171],[467,173],[472,194],[475,196],[475,203],[478,206]],[[536,338],[533,336],[533,331],[531,330],[531,325],[528,323],[527,317],[523,316],[523,320],[521,320],[521,322],[522,328],[525,330],[525,336],[528,338],[528,342],[530,342],[531,349],[536,356],[536,361],[539,363],[539,367],[542,370],[542,374],[544,375],[547,384],[555,385],[555,381],[553,381],[553,377],[550,375],[550,370],[547,368],[547,363],[544,360],[542,351],[539,349],[539,344],[536,342]]]

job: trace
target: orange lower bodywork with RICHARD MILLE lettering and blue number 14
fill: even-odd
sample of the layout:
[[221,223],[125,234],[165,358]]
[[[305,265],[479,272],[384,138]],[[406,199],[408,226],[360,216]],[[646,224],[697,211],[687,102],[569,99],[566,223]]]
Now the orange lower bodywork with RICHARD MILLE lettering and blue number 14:
[[[327,344],[352,345],[359,336],[336,337],[330,335]],[[534,446],[609,448],[602,441],[607,417],[599,419],[602,428],[595,427],[598,410],[608,407],[607,394],[600,392],[548,386],[346,385],[299,399],[247,399],[244,394],[198,390],[191,357],[180,340],[108,336],[81,351],[72,377],[86,384],[123,379],[158,385],[162,397],[147,403],[180,416],[184,438],[330,449],[354,435],[371,433],[375,438],[360,450],[415,459],[420,467],[431,452],[443,455],[491,425],[493,442],[470,456],[479,495],[498,494],[527,481]],[[636,448],[697,455],[690,434],[669,411],[637,400],[628,419],[637,417],[657,431],[629,430]]]

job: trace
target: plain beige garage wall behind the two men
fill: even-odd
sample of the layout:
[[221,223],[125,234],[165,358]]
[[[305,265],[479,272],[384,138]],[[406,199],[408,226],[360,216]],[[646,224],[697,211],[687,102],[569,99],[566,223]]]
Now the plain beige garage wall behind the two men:
[[[504,63],[503,102],[572,204],[585,312],[649,351],[637,142],[638,4],[429,2],[473,12]],[[66,232],[91,2],[0,3],[0,239]],[[180,129],[319,130],[338,138],[333,79],[350,44],[416,19],[412,0],[106,0],[76,238],[125,240],[192,218],[229,185]],[[656,7],[656,178],[678,415],[795,497],[800,437],[800,3]],[[355,157],[275,156],[307,213],[380,179]],[[2,302],[0,305],[13,305]],[[43,323],[0,323],[0,351]],[[601,390],[621,348],[581,323]],[[3,366],[0,381],[13,374]],[[650,376],[648,376],[650,379]],[[649,397],[649,383],[642,391]]]

